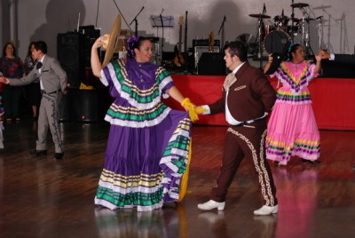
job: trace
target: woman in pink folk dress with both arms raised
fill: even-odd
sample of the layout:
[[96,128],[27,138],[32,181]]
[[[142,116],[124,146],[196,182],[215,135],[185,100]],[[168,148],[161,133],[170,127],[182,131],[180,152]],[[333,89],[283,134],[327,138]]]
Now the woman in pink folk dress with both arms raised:
[[[270,75],[282,83],[268,123],[266,157],[286,165],[291,156],[299,156],[303,163],[319,164],[319,131],[312,110],[308,83],[319,75],[320,55],[316,64],[305,61],[304,46],[291,44],[288,59]],[[272,55],[264,67],[267,72],[272,65]],[[278,83],[278,86],[279,86]]]

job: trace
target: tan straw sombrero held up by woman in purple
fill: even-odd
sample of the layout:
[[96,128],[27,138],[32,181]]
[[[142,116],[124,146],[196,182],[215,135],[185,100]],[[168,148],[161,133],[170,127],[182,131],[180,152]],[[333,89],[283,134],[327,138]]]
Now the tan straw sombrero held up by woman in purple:
[[105,59],[102,63],[102,67],[111,61],[114,57],[114,52],[122,51],[123,46],[125,46],[124,37],[122,36],[131,36],[132,32],[130,30],[122,29],[121,30],[121,15],[117,15],[114,20],[114,26],[112,27],[111,33],[106,34],[103,47],[106,49]]

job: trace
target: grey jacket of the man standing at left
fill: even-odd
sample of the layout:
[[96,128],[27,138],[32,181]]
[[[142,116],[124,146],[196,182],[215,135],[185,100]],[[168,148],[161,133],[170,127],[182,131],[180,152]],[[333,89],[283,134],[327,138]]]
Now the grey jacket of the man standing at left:
[[43,90],[47,93],[52,91],[65,91],[67,89],[67,73],[64,71],[57,59],[45,55],[41,74],[39,69],[35,68],[28,75],[19,79],[10,79],[10,85],[21,86],[32,83],[40,78],[43,84]]

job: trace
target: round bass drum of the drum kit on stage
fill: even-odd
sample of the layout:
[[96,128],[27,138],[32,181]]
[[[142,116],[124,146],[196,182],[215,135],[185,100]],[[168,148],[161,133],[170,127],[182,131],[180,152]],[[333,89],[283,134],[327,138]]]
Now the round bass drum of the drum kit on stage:
[[268,53],[283,54],[288,51],[291,37],[281,30],[274,30],[264,38],[264,50]]

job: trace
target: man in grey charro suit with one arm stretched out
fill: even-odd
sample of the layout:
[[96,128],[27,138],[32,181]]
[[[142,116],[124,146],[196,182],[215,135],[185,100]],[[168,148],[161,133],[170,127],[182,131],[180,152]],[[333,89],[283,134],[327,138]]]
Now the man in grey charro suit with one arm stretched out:
[[67,74],[60,67],[57,59],[47,55],[47,44],[43,41],[36,42],[32,56],[34,59],[38,59],[38,62],[27,76],[20,79],[0,77],[0,82],[20,86],[40,78],[42,99],[38,117],[38,139],[36,140],[36,150],[31,151],[30,155],[47,155],[46,138],[49,128],[55,145],[54,158],[62,159],[64,151],[59,128],[59,102],[62,94],[67,93]]

